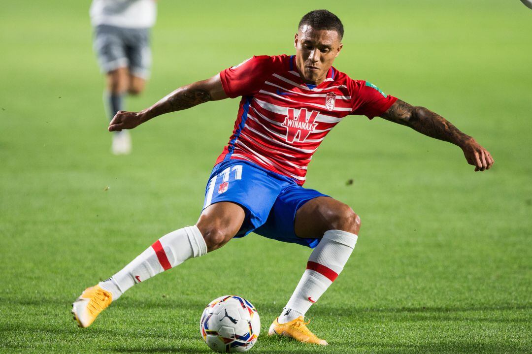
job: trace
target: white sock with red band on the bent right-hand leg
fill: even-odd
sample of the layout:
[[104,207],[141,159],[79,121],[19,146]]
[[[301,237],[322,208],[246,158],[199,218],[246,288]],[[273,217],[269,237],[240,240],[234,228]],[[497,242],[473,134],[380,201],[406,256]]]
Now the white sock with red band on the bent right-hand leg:
[[342,272],[357,239],[357,235],[340,230],[329,230],[323,234],[320,243],[310,254],[296,290],[279,316],[279,323],[287,323],[306,314]]

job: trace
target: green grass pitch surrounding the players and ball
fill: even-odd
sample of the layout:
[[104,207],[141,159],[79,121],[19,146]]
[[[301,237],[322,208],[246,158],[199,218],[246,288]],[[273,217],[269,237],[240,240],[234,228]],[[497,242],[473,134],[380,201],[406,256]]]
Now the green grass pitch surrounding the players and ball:
[[474,173],[458,147],[379,118],[329,134],[305,187],[353,207],[362,229],[307,313],[328,347],[265,335],[310,249],[255,234],[74,324],[82,290],[196,222],[238,106],[158,117],[132,131],[131,155],[111,155],[88,4],[2,4],[0,352],[209,353],[198,321],[223,294],[259,311],[252,353],[532,351],[532,11],[518,0],[159,2],[152,78],[129,109],[252,55],[293,54],[301,16],[326,7],[345,26],[338,70],[443,115],[495,158]]

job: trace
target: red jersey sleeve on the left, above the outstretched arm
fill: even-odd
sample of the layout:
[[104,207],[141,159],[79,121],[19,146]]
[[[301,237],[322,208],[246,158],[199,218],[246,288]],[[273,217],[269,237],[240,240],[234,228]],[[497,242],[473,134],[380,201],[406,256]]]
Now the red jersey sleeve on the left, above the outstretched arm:
[[278,64],[277,57],[261,55],[220,72],[220,80],[227,96],[253,96]]

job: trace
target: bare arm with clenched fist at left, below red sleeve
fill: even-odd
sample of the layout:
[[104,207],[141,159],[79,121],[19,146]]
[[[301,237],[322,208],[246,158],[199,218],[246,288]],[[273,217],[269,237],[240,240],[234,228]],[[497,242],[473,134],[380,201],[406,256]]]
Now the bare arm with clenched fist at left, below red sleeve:
[[109,123],[109,131],[121,131],[122,129],[133,129],[153,117],[165,113],[182,111],[199,104],[228,98],[223,90],[220,74],[202,81],[196,81],[187,86],[182,86],[174,90],[169,95],[163,97],[153,106],[140,112],[119,111]]

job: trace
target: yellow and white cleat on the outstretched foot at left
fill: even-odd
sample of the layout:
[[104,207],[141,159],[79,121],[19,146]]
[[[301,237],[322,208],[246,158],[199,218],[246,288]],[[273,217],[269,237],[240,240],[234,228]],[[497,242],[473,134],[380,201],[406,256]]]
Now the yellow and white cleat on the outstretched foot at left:
[[99,285],[91,286],[81,293],[72,304],[72,314],[80,327],[88,327],[96,317],[113,301],[109,291]]

